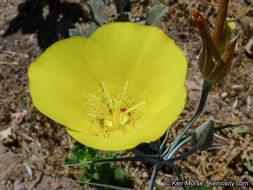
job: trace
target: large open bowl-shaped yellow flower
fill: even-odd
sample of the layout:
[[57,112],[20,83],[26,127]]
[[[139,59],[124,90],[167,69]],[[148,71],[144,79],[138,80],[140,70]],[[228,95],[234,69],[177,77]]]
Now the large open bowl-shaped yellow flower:
[[111,23],[49,47],[28,71],[36,108],[77,141],[125,150],[161,137],[182,111],[186,59],[161,30]]

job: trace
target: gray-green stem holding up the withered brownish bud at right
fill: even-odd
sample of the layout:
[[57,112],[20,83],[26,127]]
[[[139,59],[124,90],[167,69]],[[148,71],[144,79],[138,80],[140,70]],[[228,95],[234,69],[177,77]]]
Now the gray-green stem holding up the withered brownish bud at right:
[[172,142],[171,146],[169,146],[164,153],[162,154],[162,156],[164,156],[165,154],[167,154],[168,152],[173,151],[173,149],[177,146],[177,144],[181,141],[182,137],[184,136],[184,134],[188,131],[188,129],[194,124],[194,122],[198,119],[199,115],[201,114],[201,112],[203,111],[205,104],[206,104],[206,100],[208,97],[208,93],[210,92],[212,88],[212,85],[210,83],[208,83],[206,80],[204,80],[203,85],[202,85],[202,92],[201,92],[201,97],[199,100],[199,105],[198,108],[195,112],[195,114],[192,116],[192,118],[190,119],[190,121],[187,123],[187,125],[185,126],[185,128],[183,129],[183,131],[176,137],[176,139]]

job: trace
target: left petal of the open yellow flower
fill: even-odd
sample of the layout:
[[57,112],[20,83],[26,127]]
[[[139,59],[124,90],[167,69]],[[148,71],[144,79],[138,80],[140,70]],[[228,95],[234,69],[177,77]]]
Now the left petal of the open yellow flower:
[[87,83],[94,83],[84,62],[86,40],[74,37],[53,44],[28,70],[34,105],[67,127],[82,123],[82,93]]

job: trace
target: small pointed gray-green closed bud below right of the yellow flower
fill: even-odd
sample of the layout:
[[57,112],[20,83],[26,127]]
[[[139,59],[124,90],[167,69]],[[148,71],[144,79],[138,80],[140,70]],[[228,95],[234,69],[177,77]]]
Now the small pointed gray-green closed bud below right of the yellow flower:
[[201,126],[199,126],[194,133],[192,133],[192,143],[198,150],[208,149],[212,142],[214,136],[214,121],[210,118]]

